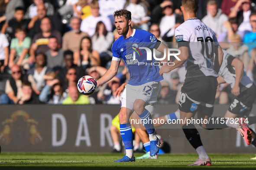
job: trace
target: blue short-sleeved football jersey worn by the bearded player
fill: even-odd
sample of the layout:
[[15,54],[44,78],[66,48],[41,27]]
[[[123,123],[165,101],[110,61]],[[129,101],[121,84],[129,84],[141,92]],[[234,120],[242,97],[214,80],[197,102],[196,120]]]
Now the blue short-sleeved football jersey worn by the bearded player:
[[[147,60],[147,52],[139,47],[151,49],[159,47],[159,42],[155,35],[139,29],[133,29],[133,35],[124,39],[123,35],[112,45],[112,60],[123,60],[130,73],[130,85],[143,85],[147,82],[159,82],[163,79],[159,75],[159,66],[151,55],[151,60]],[[135,54],[135,56],[134,56]],[[134,60],[135,57],[135,60]],[[155,65],[154,65],[155,64]]]

